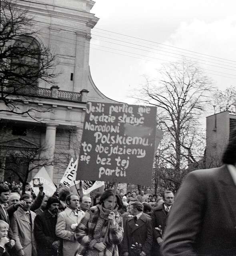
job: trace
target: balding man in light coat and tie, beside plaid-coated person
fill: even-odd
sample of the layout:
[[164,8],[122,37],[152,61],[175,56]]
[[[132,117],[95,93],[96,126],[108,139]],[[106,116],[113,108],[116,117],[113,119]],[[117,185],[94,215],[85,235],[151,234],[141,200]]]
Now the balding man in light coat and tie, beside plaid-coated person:
[[63,256],[74,255],[79,245],[75,238],[75,229],[84,216],[84,211],[78,209],[79,202],[77,195],[68,195],[67,208],[58,214],[56,235],[63,239]]

